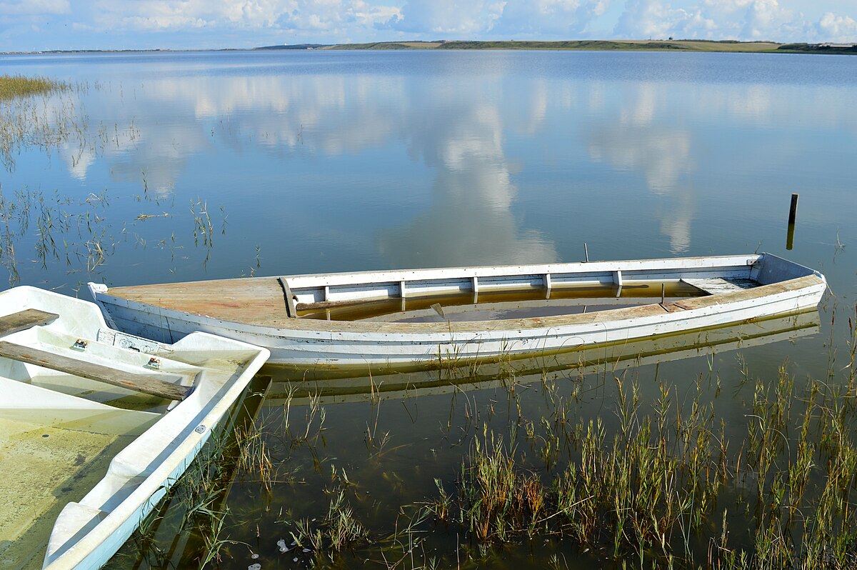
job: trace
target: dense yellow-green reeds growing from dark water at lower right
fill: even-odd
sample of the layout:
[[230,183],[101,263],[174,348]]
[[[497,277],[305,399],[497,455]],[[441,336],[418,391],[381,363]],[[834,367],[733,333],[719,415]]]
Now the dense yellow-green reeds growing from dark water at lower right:
[[[524,421],[530,449],[564,450],[564,468],[552,469],[558,458],[536,469],[513,433],[507,443],[486,427],[454,489],[436,480],[425,508],[488,546],[553,536],[640,567],[852,568],[857,405],[848,356],[843,385],[810,379],[799,391],[788,363],[774,381],[755,381],[737,446],[716,419],[719,379],[700,375],[680,405],[677,388],[661,382],[646,410],[638,380],[614,376],[612,428],[601,417],[569,423],[565,405],[541,423]],[[730,509],[749,521],[746,531],[728,528]]]

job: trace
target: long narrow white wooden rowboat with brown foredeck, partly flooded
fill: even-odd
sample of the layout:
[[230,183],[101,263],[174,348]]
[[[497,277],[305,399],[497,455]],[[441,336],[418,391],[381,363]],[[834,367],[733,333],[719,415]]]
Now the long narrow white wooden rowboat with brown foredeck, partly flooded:
[[295,367],[407,369],[555,354],[818,305],[824,276],[776,255],[220,279],[89,289],[112,327],[240,339]]

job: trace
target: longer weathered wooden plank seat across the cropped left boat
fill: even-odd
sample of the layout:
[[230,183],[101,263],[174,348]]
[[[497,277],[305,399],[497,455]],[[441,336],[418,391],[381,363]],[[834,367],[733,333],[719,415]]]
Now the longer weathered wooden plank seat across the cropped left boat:
[[158,380],[151,375],[135,374],[100,364],[87,363],[77,358],[64,357],[60,354],[17,345],[5,340],[0,340],[0,357],[11,358],[21,363],[35,364],[42,368],[65,372],[89,380],[105,382],[105,384],[128,388],[159,398],[182,400],[188,396],[192,389]]

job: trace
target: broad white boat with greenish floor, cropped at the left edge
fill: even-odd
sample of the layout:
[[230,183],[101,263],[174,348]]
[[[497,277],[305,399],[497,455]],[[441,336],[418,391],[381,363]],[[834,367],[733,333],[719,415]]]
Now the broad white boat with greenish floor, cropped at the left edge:
[[268,356],[120,333],[93,303],[33,287],[0,293],[0,337],[0,567],[102,566]]

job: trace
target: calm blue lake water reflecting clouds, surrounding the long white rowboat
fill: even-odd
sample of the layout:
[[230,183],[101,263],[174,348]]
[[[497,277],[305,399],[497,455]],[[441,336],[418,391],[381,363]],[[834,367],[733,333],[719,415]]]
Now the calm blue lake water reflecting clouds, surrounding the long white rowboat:
[[[825,274],[820,327],[742,329],[716,340],[725,346],[713,356],[644,360],[626,376],[638,378],[644,411],[657,380],[680,405],[702,375],[720,388],[710,396],[716,431],[722,420],[737,453],[756,378],[776,379],[788,361],[796,392],[807,377],[843,381],[857,302],[857,57],[266,51],[7,56],[0,66],[85,86],[38,99],[40,112],[65,122],[60,140],[3,155],[12,283],[87,297],[89,280],[579,261],[584,243],[592,260],[767,251]],[[740,342],[752,336],[762,340]],[[456,390],[395,377],[383,401],[365,395],[366,381],[318,401],[290,399],[276,382],[256,423],[279,483],[268,491],[238,477],[223,491],[219,539],[234,542],[221,567],[312,564],[312,553],[280,555],[277,540],[291,543],[297,519],[325,517],[326,489],[344,473],[376,545],[332,566],[620,565],[622,556],[557,537],[480,547],[464,526],[431,521],[413,548],[388,538],[410,516],[401,507],[436,497],[435,479],[455,489],[488,431],[513,440],[523,465],[549,482],[567,463],[545,459],[539,435],[557,393],[578,402],[575,422],[614,427],[613,373],[584,372],[551,373],[549,386],[536,373],[511,391],[489,372],[479,379],[488,386]],[[589,387],[582,398],[579,387]],[[688,547],[700,564],[722,507]],[[752,512],[728,508],[733,546],[749,548]],[[130,541],[111,567],[192,567],[206,531],[169,512],[155,538]]]

